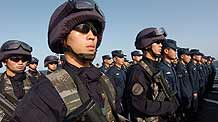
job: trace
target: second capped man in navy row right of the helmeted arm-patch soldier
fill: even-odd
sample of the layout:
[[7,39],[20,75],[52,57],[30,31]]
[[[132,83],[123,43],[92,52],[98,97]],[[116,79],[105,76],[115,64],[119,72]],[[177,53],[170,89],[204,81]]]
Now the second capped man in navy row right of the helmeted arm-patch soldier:
[[189,73],[187,70],[187,64],[191,61],[191,56],[188,48],[179,48],[177,51],[179,61],[176,65],[176,74],[178,82],[180,83],[181,92],[181,109],[188,119],[190,117],[190,109],[192,102],[192,84],[189,79]]

